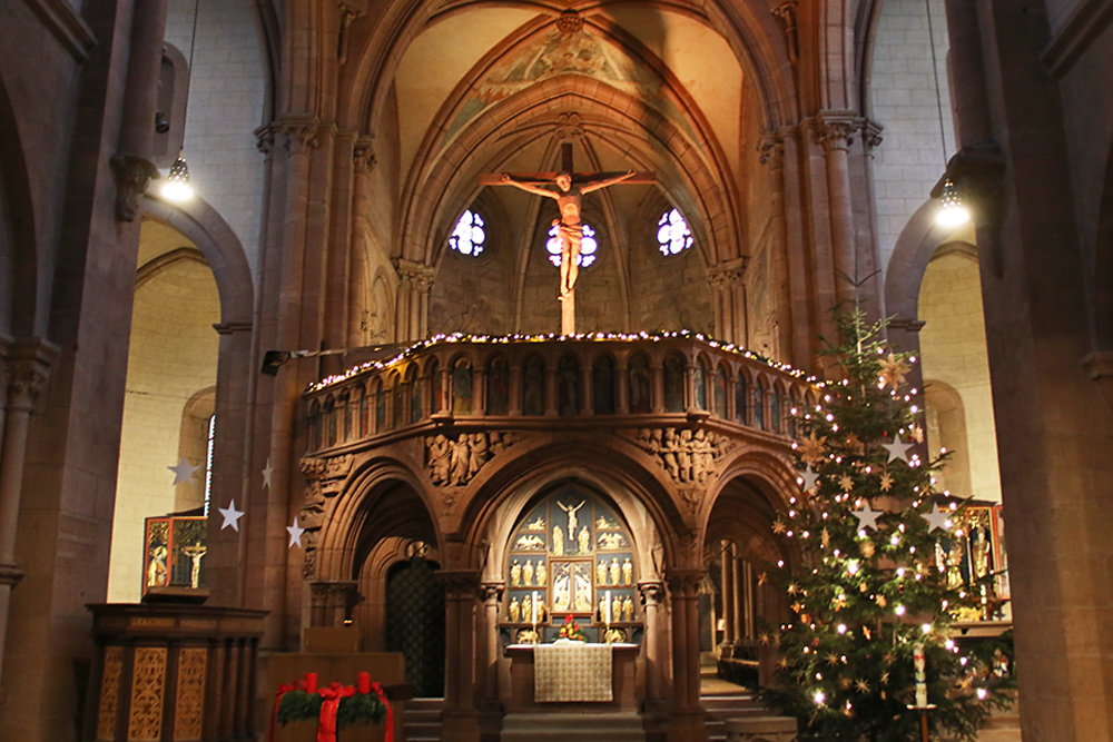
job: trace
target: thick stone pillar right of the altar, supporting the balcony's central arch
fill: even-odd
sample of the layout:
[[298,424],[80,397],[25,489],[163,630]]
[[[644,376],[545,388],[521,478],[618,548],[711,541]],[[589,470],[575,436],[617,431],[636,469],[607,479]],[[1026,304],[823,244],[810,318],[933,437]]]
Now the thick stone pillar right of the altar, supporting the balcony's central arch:
[[672,568],[667,573],[672,609],[672,705],[669,742],[707,740],[699,704],[699,585],[703,570]]

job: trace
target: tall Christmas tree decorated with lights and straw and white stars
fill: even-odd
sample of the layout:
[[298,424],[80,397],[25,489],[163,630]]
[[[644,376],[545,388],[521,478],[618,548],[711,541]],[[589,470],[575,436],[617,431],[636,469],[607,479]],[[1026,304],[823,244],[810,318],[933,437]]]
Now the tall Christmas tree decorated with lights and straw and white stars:
[[801,740],[920,740],[923,714],[932,739],[974,740],[1011,680],[993,673],[997,646],[964,649],[948,631],[976,590],[948,587],[937,558],[962,535],[962,503],[935,487],[946,455],[917,453],[915,358],[860,313],[837,324],[826,355],[839,378],[794,413],[800,489],[774,524],[797,555],[779,575],[792,617],[760,636],[779,650],[761,696],[799,719]]

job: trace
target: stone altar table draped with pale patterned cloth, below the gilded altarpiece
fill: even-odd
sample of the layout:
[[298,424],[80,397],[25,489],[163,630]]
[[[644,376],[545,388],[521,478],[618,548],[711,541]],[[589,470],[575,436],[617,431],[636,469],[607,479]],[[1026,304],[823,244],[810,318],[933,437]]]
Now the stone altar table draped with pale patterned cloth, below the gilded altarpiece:
[[[637,710],[637,644],[511,644],[508,712],[558,711],[590,704],[595,710]],[[609,656],[603,659],[603,653]],[[591,676],[602,673],[604,676]]]

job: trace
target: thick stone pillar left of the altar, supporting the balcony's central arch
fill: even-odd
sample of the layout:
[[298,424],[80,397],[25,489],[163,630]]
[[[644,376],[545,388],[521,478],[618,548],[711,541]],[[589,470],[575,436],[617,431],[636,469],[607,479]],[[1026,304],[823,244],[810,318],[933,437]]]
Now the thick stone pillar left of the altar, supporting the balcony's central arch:
[[445,593],[443,739],[479,742],[475,709],[475,609],[480,574],[475,570],[442,570]]

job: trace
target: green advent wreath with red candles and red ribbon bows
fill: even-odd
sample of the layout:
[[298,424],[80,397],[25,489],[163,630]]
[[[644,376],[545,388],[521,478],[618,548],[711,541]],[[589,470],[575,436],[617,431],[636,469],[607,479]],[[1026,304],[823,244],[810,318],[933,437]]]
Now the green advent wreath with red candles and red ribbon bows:
[[386,722],[386,742],[394,740],[394,710],[378,683],[371,675],[359,673],[357,685],[329,683],[317,687],[317,673],[305,673],[304,681],[294,681],[278,689],[274,716],[270,720],[270,739],[275,722],[285,726],[292,721],[317,720],[318,742],[336,742],[336,732],[352,724]]

